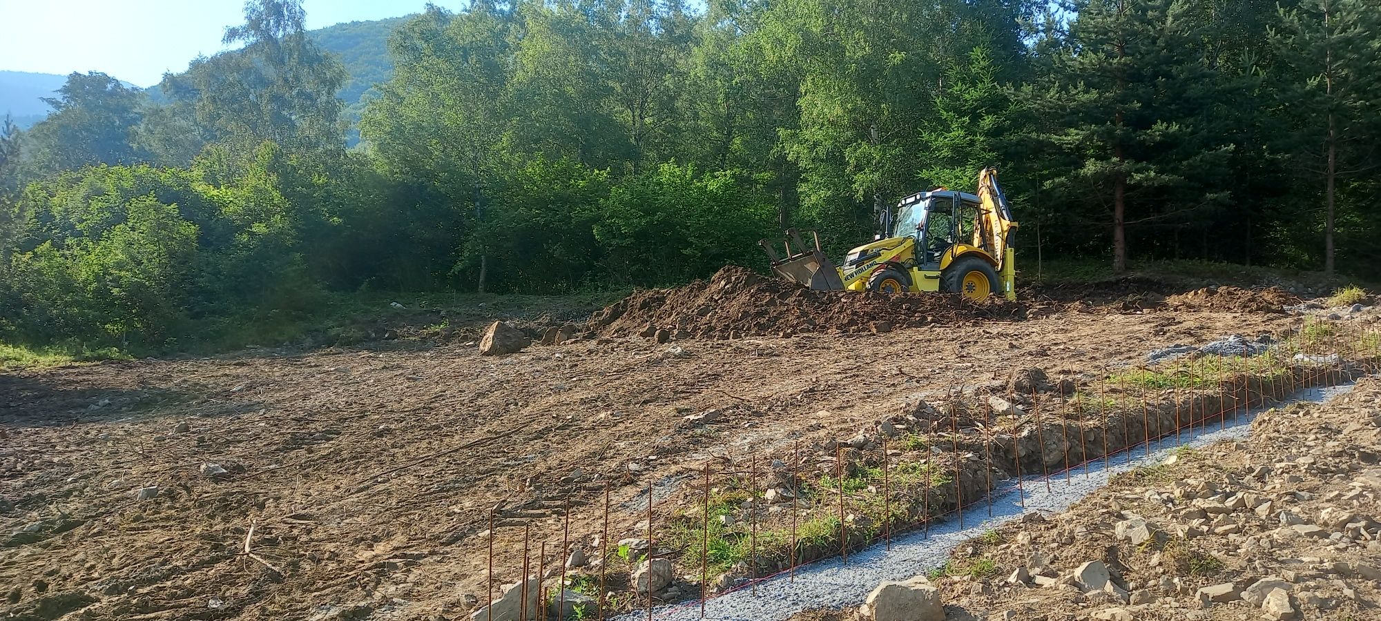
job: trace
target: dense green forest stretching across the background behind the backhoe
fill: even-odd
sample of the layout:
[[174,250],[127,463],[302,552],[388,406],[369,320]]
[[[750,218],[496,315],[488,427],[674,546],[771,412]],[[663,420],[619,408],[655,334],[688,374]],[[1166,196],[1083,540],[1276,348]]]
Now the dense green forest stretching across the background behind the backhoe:
[[302,23],[253,0],[159,101],[72,75],[0,128],[0,341],[674,284],[983,166],[1026,265],[1381,259],[1375,0],[475,0],[391,23],[374,86]]

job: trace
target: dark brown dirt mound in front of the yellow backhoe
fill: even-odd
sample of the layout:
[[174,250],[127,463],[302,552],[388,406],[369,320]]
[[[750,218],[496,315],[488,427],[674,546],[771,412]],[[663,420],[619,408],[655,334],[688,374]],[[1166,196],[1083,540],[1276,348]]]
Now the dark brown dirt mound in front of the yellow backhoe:
[[731,265],[708,282],[635,291],[594,313],[590,328],[605,335],[641,334],[659,339],[739,338],[889,331],[902,326],[1023,316],[1023,306],[1000,299],[979,304],[946,294],[811,291]]

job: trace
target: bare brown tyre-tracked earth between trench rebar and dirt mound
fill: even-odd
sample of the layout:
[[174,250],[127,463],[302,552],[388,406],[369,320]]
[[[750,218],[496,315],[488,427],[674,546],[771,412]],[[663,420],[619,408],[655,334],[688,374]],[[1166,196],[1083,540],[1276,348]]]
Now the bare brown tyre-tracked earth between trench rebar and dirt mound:
[[[641,337],[505,357],[394,342],[10,373],[0,614],[461,618],[485,600],[490,509],[496,584],[514,582],[522,524],[555,551],[569,501],[572,541],[590,541],[606,483],[617,541],[645,519],[635,500],[649,480],[711,453],[853,435],[918,393],[1016,367],[1092,371],[1297,323],[1055,310],[885,334],[686,339],[679,355]],[[726,418],[682,424],[713,407]],[[203,475],[206,464],[226,472]]]

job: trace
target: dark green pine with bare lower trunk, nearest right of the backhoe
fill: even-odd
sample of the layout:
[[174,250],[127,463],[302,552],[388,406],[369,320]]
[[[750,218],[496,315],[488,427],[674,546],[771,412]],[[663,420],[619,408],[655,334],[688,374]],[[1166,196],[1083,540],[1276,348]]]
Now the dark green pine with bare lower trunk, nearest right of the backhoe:
[[1196,90],[1214,80],[1197,46],[1195,1],[1083,0],[1048,69],[1023,98],[1058,161],[1044,185],[1088,219],[1110,215],[1113,270],[1127,269],[1127,226],[1184,218],[1224,200],[1186,181],[1230,148],[1206,138]]

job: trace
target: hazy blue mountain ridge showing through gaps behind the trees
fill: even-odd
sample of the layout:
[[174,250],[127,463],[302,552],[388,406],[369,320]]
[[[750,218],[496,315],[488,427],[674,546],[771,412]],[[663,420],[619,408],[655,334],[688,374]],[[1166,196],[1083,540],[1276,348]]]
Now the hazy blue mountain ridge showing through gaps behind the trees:
[[[308,30],[318,46],[340,57],[349,73],[349,80],[337,97],[345,102],[345,116],[351,123],[359,120],[365,102],[371,98],[373,86],[394,77],[394,61],[388,57],[388,36],[410,17],[344,22]],[[32,127],[52,112],[43,98],[55,97],[66,80],[68,76],[55,73],[0,70],[0,116],[8,112],[21,128]],[[157,86],[146,91],[153,101],[162,101]],[[354,142],[355,132],[351,134]]]

